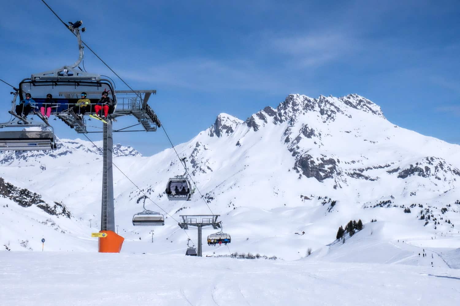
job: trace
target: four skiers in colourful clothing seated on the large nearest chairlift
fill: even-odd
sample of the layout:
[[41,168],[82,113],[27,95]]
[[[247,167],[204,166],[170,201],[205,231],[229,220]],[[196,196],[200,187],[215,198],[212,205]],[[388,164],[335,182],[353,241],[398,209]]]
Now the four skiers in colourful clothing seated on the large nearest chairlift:
[[[83,118],[86,111],[91,112],[91,100],[86,98],[86,96],[86,92],[82,92],[81,99],[77,100],[72,108],[75,114],[80,118]],[[29,93],[26,93],[25,99],[16,106],[16,114],[25,118],[29,115],[29,112],[33,108],[39,107],[40,113],[43,115],[43,117],[49,118],[51,116],[53,106],[56,107],[57,103],[53,100],[53,96],[51,94],[47,94],[45,101],[37,106],[37,103],[34,99],[32,99],[32,96]],[[112,113],[113,110],[114,102],[109,98],[109,93],[104,90],[101,99],[99,99],[97,104],[94,106],[95,115],[97,117],[102,116],[102,118],[107,119],[109,113]],[[104,115],[101,115],[101,111],[104,112]]]

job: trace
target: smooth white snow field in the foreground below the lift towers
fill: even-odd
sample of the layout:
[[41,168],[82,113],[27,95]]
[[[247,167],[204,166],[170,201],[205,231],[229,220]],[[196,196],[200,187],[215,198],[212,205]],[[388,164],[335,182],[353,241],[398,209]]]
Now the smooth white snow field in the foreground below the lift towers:
[[460,271],[406,265],[1,252],[1,305],[452,305]]

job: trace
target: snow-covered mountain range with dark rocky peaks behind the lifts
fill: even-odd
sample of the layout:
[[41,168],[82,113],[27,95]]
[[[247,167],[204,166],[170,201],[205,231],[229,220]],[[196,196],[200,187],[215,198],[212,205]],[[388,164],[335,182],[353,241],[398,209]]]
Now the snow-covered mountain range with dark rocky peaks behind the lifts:
[[[312,248],[328,258],[339,226],[358,219],[365,228],[376,219],[385,239],[428,240],[458,232],[459,146],[394,125],[359,95],[288,95],[245,121],[221,113],[176,150],[188,157],[197,184],[191,201],[163,195],[167,179],[184,172],[174,150],[150,157],[121,145],[116,150],[114,163],[155,202],[147,199],[146,207],[170,215],[164,227],[155,228],[157,243],[148,244],[151,228],[131,224],[144,194],[114,168],[115,222],[126,238],[124,250],[182,253],[187,235],[177,221],[184,214],[221,215],[232,243],[228,249],[205,244],[207,255],[237,251],[295,259]],[[52,152],[0,154],[5,182],[46,203],[61,203],[70,214],[49,215],[4,195],[0,244],[38,249],[40,241],[29,237],[34,232],[53,237],[51,250],[95,250],[97,241],[87,237],[100,218],[101,160],[81,140],[61,140]],[[89,228],[90,219],[96,228]],[[196,240],[196,232],[188,234]],[[63,243],[69,237],[71,246]]]

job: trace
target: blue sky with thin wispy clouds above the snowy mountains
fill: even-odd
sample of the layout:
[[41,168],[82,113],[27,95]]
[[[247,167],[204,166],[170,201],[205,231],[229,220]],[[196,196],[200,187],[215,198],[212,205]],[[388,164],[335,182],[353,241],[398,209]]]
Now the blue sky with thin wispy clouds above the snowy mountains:
[[[460,143],[460,2],[305,2],[47,0],[65,22],[83,20],[84,41],[132,88],[157,89],[149,104],[174,144],[220,112],[245,120],[291,93],[357,93],[403,128]],[[77,59],[76,39],[40,0],[0,7],[0,78],[17,85]],[[85,67],[112,76],[89,50]],[[9,91],[0,84],[6,109]],[[114,142],[144,155],[169,146],[160,129]]]

